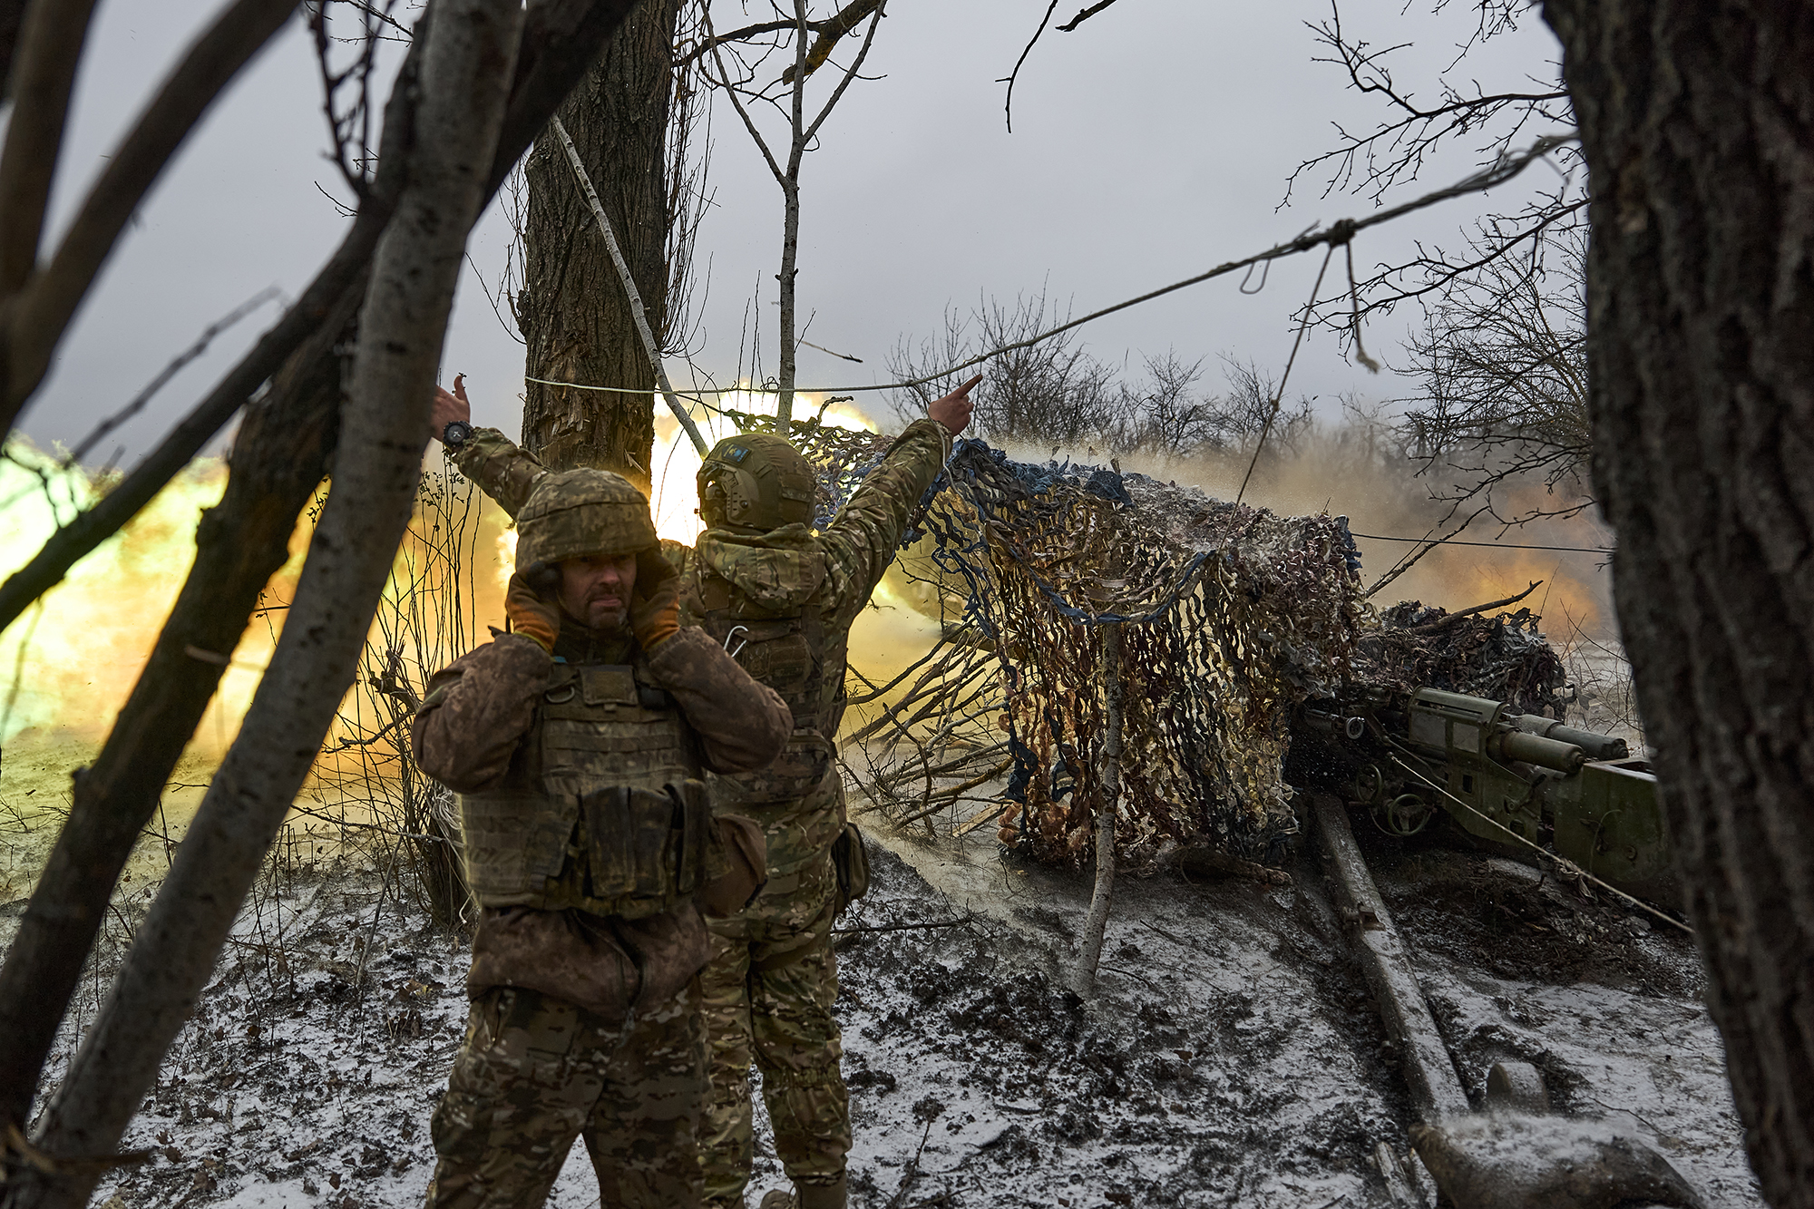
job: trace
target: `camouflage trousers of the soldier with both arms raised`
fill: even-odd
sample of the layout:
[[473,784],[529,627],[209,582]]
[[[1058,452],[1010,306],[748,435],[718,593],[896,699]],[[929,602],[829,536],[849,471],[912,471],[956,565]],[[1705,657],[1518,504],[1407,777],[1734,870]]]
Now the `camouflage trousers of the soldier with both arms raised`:
[[700,973],[711,1053],[711,1104],[700,1127],[706,1204],[742,1207],[755,1158],[749,1060],[775,1122],[775,1149],[796,1184],[836,1184],[851,1149],[851,1102],[831,1006],[838,962],[831,919],[838,882],[829,853],[773,879],[740,915],[707,919]]

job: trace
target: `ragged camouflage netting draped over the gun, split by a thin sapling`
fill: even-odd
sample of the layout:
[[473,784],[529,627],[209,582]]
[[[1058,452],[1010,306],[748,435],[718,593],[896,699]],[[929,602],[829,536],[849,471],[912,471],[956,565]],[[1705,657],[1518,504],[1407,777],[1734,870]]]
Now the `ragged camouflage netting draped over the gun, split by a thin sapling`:
[[[1137,474],[1010,463],[960,441],[925,516],[934,559],[996,646],[1014,757],[1003,819],[1036,859],[1085,864],[1105,724],[1103,626],[1121,626],[1117,850],[1277,857],[1292,710],[1348,673],[1360,626],[1335,517],[1277,517]],[[1068,790],[1068,791],[1067,791]]]

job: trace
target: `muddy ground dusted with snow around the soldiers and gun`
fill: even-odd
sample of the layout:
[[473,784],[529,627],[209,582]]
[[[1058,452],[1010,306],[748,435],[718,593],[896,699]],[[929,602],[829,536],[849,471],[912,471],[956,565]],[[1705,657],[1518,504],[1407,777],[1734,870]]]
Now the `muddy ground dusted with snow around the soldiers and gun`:
[[[1473,1095],[1491,1062],[1533,1062],[1562,1111],[1649,1140],[1709,1204],[1760,1204],[1687,937],[1360,835]],[[1408,1155],[1409,1109],[1313,862],[1290,886],[1123,879],[1085,1004],[1065,989],[1083,879],[983,839],[882,839],[840,940],[854,1205],[1393,1204],[1377,1149]],[[419,1204],[464,966],[370,871],[267,879],[127,1138],[147,1162],[100,1200]],[[764,1138],[751,1204],[778,1184]],[[550,1204],[597,1204],[582,1155]]]

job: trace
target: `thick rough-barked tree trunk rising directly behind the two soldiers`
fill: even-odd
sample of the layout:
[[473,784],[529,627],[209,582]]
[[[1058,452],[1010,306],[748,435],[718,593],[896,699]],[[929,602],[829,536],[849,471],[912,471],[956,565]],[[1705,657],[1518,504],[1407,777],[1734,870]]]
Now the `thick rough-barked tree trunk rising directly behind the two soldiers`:
[[[639,4],[559,113],[599,189],[657,338],[668,310],[664,151],[678,13],[680,0]],[[522,405],[522,445],[550,467],[615,470],[648,490],[655,369],[553,131],[535,142],[526,176],[530,216],[517,321],[528,345],[528,376],[649,394],[532,381]]]

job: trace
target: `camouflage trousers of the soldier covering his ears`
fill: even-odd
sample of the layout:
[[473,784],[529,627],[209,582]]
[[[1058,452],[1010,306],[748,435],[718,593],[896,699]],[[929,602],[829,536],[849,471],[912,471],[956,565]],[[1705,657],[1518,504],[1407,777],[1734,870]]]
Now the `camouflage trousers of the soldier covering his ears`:
[[628,1027],[541,991],[493,988],[472,1006],[434,1115],[441,1160],[428,1207],[533,1209],[579,1136],[606,1209],[691,1209],[704,1104],[698,980]]

